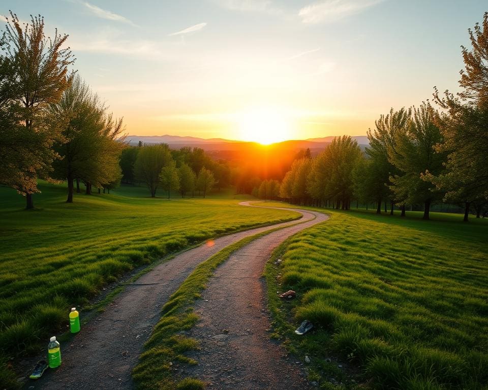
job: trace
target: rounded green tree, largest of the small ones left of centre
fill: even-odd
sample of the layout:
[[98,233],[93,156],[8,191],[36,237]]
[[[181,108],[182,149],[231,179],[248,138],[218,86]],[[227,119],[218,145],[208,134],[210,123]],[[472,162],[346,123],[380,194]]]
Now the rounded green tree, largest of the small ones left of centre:
[[166,144],[144,145],[139,148],[134,173],[138,180],[146,183],[151,197],[156,197],[159,185],[159,174],[164,166],[171,161],[171,153]]

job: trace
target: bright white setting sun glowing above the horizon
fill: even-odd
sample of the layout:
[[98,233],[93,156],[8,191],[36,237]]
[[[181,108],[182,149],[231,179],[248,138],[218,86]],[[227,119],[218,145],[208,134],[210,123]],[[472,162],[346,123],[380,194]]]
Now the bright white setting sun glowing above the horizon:
[[258,106],[237,115],[240,139],[269,145],[290,139],[291,126],[286,111],[274,106]]

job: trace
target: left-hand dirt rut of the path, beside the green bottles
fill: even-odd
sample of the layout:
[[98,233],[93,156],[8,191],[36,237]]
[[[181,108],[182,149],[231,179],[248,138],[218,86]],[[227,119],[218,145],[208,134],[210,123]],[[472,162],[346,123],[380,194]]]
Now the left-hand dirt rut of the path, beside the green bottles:
[[[313,219],[315,214],[324,217],[319,213],[301,213],[299,221],[309,222],[297,225],[293,231],[317,223],[318,220]],[[297,221],[285,222],[220,237],[215,240],[214,246],[208,247],[203,244],[179,253],[171,261],[157,266],[128,285],[102,314],[83,327],[82,332],[76,335],[69,345],[62,345],[63,365],[60,368],[47,370],[37,381],[27,381],[25,388],[134,388],[131,371],[137,364],[144,342],[160,319],[161,307],[193,269],[208,257],[242,238],[275,229],[277,226],[290,226],[296,223]],[[290,228],[286,229],[288,232]],[[273,234],[273,237],[275,238],[272,240],[279,240],[277,235]],[[264,264],[265,258],[262,257],[261,260],[261,264]]]

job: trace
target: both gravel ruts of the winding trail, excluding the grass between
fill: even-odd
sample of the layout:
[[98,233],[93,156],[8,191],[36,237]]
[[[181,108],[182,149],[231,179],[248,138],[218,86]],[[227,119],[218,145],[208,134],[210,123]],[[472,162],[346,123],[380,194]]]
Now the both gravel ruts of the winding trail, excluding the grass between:
[[[250,202],[241,205],[250,206]],[[129,284],[70,344],[62,345],[62,366],[47,370],[37,381],[28,381],[25,388],[133,389],[131,371],[171,294],[210,256],[242,238],[277,227],[283,229],[233,253],[217,269],[204,299],[197,303],[202,320],[194,337],[201,341],[202,350],[192,375],[219,389],[306,387],[299,370],[280,358],[281,347],[269,341],[266,294],[260,277],[272,250],[283,240],[328,217],[313,211],[286,210],[297,211],[302,217],[217,238],[214,246],[202,244],[181,252]],[[223,329],[229,333],[222,335]]]

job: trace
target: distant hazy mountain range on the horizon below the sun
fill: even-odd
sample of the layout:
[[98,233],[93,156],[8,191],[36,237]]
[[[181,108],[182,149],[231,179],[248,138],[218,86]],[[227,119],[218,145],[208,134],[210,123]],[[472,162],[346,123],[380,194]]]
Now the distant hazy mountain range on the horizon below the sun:
[[[366,136],[356,136],[352,137],[364,149],[368,146],[368,137]],[[271,146],[286,148],[289,150],[300,150],[310,148],[313,154],[318,153],[327,144],[332,142],[334,139],[331,137],[323,138],[310,138],[308,140],[289,140],[278,142],[272,144]],[[242,151],[243,149],[259,147],[260,144],[256,142],[246,142],[246,141],[234,141],[226,140],[223,138],[210,138],[203,139],[197,137],[180,137],[180,136],[127,136],[126,141],[130,145],[138,145],[139,141],[143,144],[160,144],[165,143],[174,149],[179,149],[184,146],[199,147],[207,151],[217,151],[217,150],[229,150],[229,151]]]

